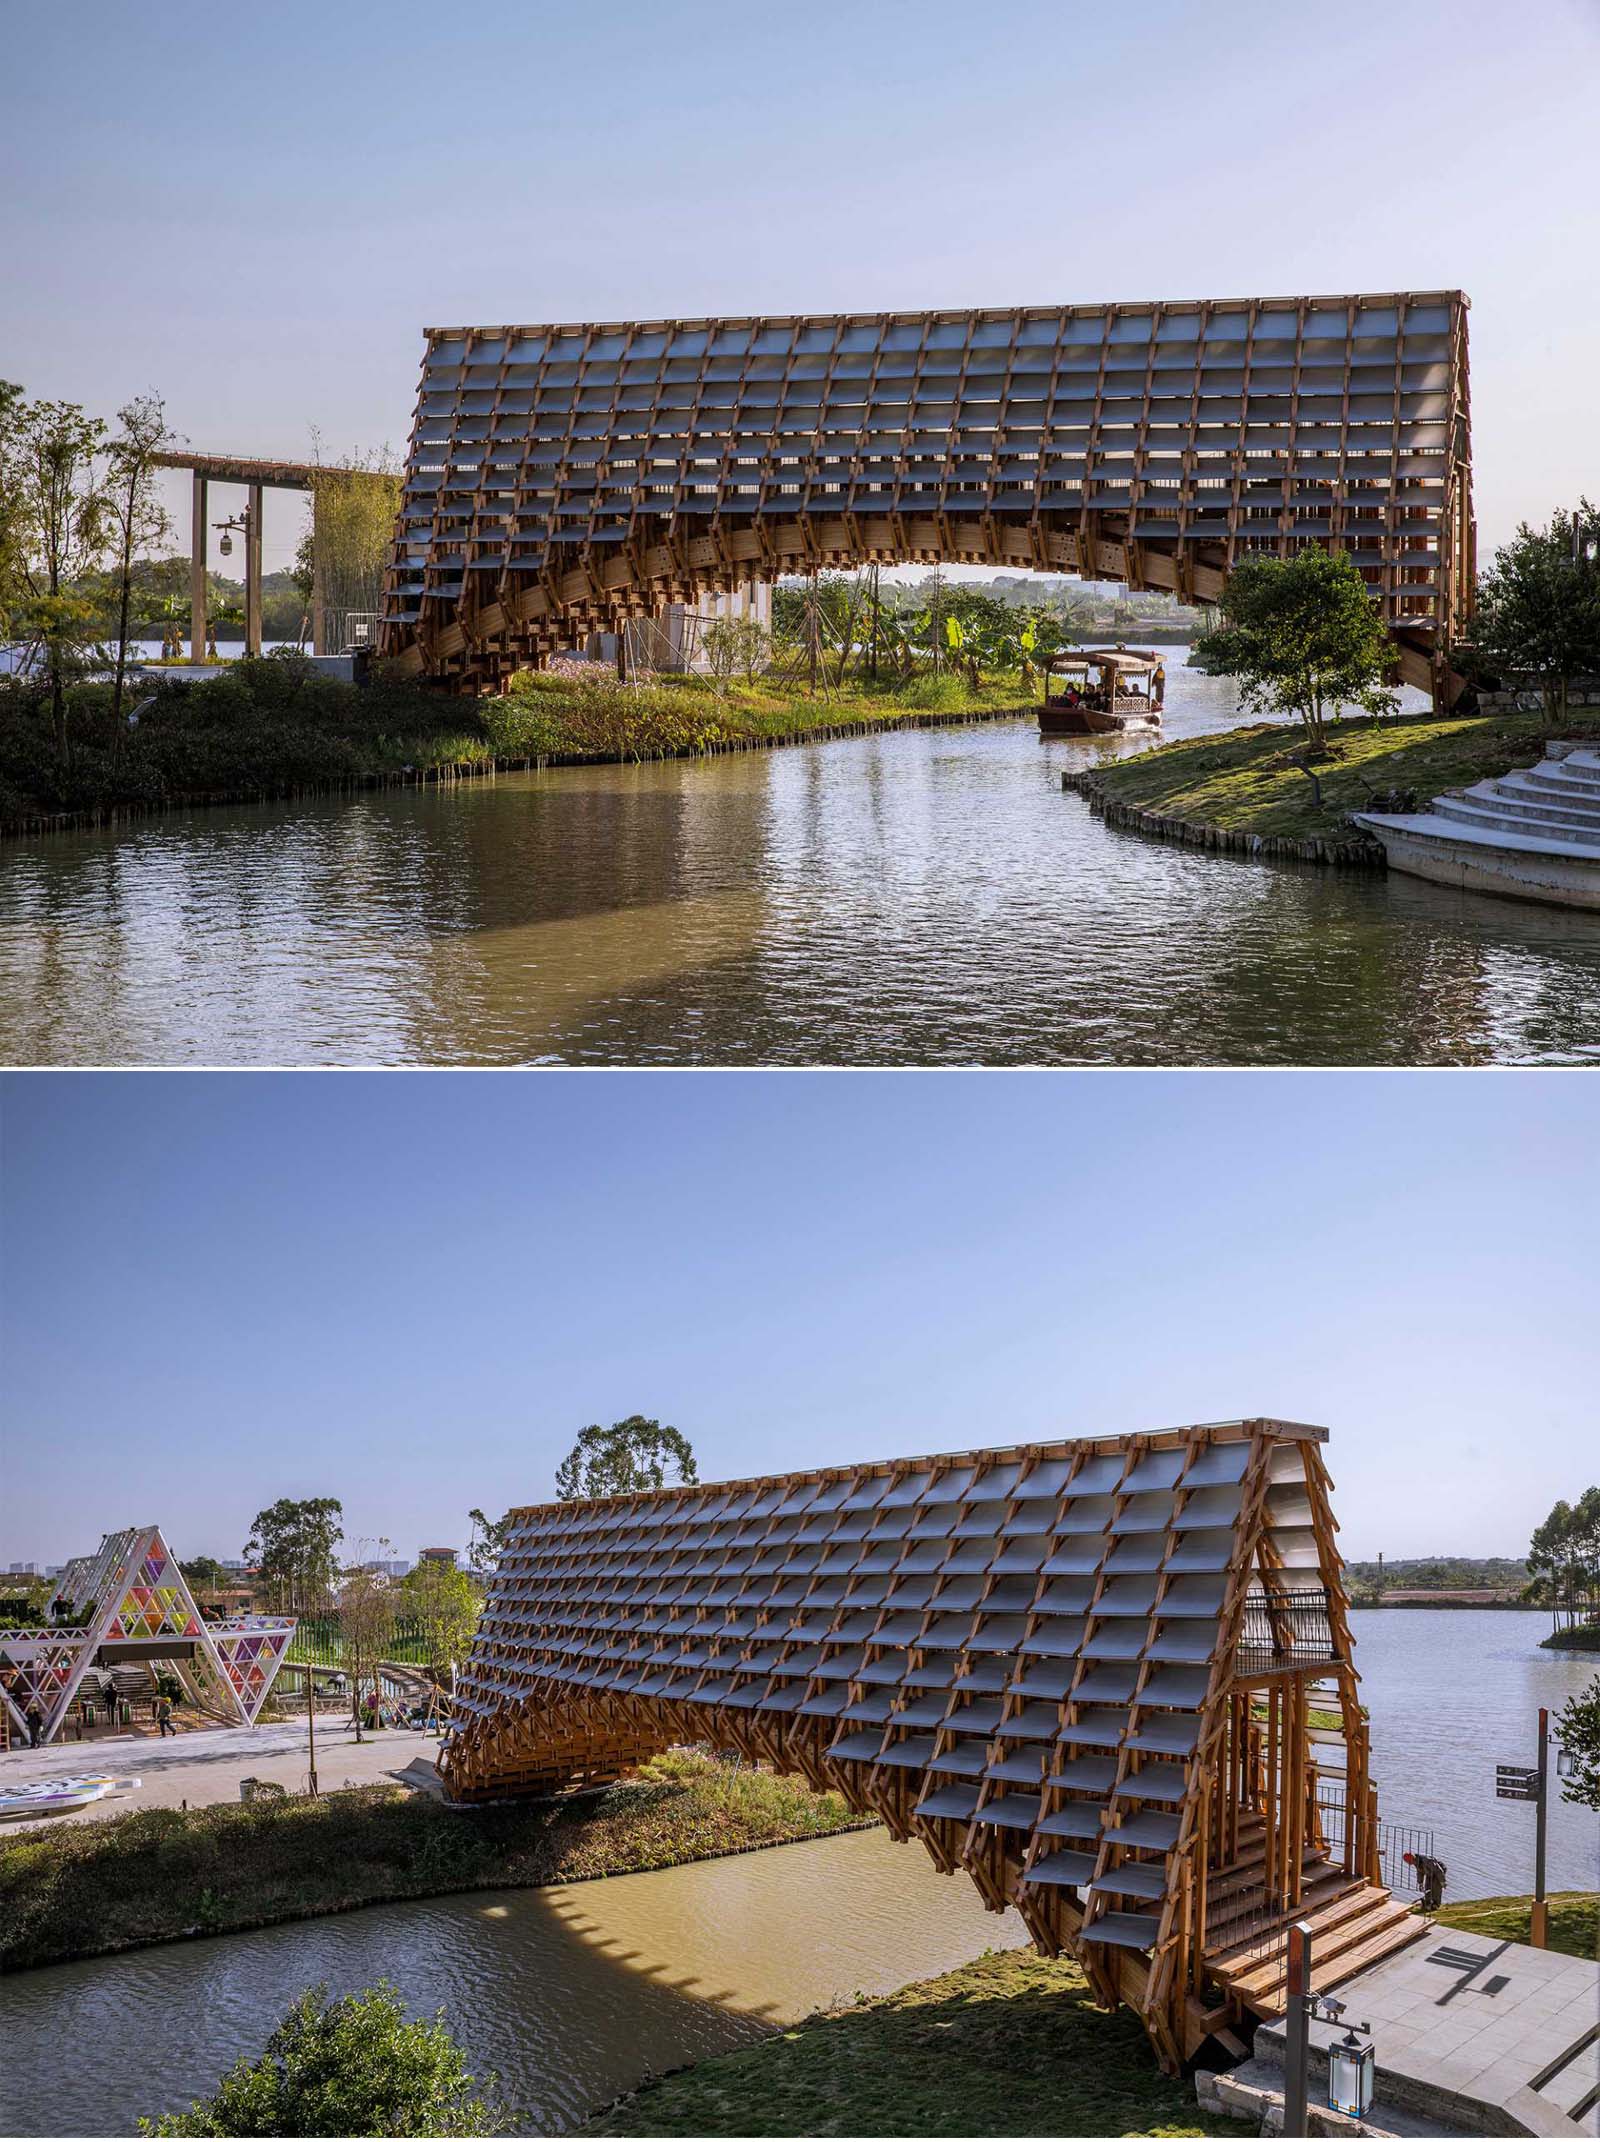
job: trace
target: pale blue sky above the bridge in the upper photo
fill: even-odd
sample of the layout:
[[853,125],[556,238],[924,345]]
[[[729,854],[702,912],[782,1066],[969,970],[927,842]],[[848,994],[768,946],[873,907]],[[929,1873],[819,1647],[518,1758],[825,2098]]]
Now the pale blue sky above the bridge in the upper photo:
[[1459,285],[1484,540],[1600,495],[1596,0],[13,0],[0,54],[0,377],[195,446],[403,446],[428,323]]

